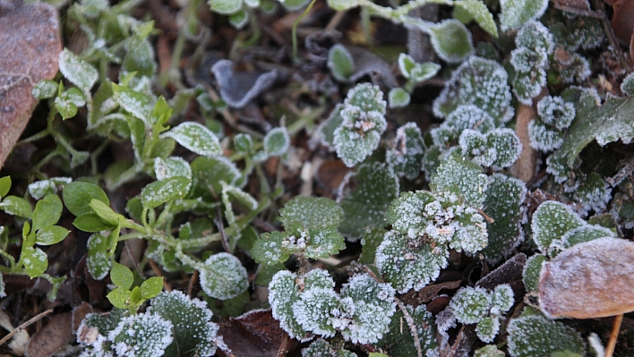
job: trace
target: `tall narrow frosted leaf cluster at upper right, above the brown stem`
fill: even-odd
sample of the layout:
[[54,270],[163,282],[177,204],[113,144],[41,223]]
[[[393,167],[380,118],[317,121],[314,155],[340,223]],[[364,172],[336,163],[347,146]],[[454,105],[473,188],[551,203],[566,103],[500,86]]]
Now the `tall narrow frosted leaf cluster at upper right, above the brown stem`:
[[511,52],[515,68],[513,91],[518,100],[529,106],[546,84],[548,56],[553,53],[553,35],[539,21],[527,22],[515,38],[517,48]]

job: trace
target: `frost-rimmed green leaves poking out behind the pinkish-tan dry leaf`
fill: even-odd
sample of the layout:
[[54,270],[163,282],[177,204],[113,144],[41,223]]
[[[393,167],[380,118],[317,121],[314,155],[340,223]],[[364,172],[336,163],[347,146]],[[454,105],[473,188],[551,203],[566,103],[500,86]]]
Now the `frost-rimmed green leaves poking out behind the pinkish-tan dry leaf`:
[[600,225],[590,225],[557,201],[545,201],[535,210],[531,222],[533,241],[540,254],[528,259],[524,267],[524,285],[528,291],[537,291],[542,263],[580,242],[589,242],[616,234]]

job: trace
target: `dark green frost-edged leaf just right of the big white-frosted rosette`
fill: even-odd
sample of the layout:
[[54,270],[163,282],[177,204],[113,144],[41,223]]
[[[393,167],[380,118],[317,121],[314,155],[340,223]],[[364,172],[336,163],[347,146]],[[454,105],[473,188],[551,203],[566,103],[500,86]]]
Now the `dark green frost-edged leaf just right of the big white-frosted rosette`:
[[524,240],[521,223],[524,220],[524,202],[527,189],[524,182],[503,174],[489,176],[484,199],[484,213],[493,219],[486,225],[489,242],[480,251],[492,264],[507,258]]

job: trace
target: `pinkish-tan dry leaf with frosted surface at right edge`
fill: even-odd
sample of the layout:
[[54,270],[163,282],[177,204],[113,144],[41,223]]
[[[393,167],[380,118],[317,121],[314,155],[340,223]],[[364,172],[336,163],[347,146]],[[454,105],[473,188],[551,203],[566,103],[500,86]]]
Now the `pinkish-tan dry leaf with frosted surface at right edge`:
[[539,305],[552,318],[594,319],[634,311],[634,242],[600,238],[545,262]]

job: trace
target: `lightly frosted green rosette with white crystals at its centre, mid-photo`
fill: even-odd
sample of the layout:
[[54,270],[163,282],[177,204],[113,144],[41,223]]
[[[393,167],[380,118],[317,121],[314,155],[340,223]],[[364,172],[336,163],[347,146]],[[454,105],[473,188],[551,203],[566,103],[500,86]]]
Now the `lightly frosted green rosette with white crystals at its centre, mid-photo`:
[[261,234],[253,244],[253,259],[262,264],[286,261],[291,254],[306,258],[328,258],[346,248],[338,232],[343,209],[325,198],[299,196],[279,211],[285,232]]

